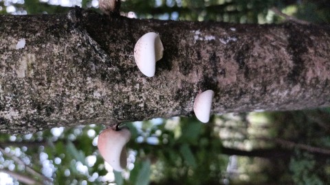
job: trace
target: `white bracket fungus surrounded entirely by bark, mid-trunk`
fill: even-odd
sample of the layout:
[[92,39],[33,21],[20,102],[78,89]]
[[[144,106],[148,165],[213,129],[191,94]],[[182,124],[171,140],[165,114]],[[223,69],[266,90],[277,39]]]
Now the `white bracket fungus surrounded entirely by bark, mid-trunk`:
[[154,32],[144,34],[134,47],[134,58],[137,67],[147,77],[153,77],[156,62],[163,58],[164,47],[159,35]]

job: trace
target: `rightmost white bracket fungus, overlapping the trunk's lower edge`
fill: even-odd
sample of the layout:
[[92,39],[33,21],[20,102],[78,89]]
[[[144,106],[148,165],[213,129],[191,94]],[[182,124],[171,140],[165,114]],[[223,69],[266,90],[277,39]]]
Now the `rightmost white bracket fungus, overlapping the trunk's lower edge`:
[[206,90],[203,93],[199,93],[195,98],[194,112],[197,119],[203,123],[208,123],[210,120],[213,96],[213,90]]

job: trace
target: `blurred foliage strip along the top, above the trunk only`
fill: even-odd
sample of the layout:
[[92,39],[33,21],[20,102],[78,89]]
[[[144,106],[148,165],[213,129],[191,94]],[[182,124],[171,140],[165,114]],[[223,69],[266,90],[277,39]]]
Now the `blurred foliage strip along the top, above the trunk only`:
[[[15,2],[15,3],[13,3]],[[79,5],[98,11],[97,0],[1,0],[0,12],[12,14],[58,14]],[[8,7],[14,7],[14,11]],[[63,7],[64,6],[64,7]],[[327,0],[126,0],[122,1],[122,12],[134,11],[139,18],[160,18],[187,21],[224,21],[231,23],[281,23],[270,8],[276,7],[290,16],[311,23],[329,23],[330,2]],[[289,9],[289,11],[287,10]],[[7,11],[6,11],[7,10]]]

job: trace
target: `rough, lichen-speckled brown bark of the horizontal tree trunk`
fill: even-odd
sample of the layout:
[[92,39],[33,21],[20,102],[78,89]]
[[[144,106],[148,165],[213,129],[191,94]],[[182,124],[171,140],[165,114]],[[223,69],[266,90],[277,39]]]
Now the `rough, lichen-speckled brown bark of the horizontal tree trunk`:
[[[79,8],[1,15],[0,24],[0,132],[189,116],[208,89],[213,113],[330,106],[329,25],[139,20]],[[147,32],[164,45],[154,77],[133,58]]]

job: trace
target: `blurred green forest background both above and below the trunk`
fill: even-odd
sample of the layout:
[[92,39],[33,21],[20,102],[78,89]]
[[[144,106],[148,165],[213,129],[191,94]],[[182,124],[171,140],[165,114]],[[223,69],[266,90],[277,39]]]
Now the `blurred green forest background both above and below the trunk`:
[[[0,13],[61,14],[74,5],[98,11],[96,0],[63,2],[1,0]],[[285,21],[273,7],[311,23],[330,21],[326,0],[126,0],[121,10],[165,20]],[[1,173],[8,171],[41,184],[328,184],[329,123],[329,108],[223,114],[208,124],[177,117],[126,123],[132,139],[122,173],[113,173],[98,153],[102,125],[0,134],[0,184],[17,184],[19,178]]]

